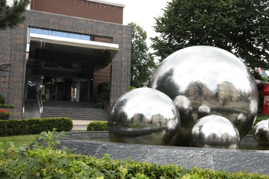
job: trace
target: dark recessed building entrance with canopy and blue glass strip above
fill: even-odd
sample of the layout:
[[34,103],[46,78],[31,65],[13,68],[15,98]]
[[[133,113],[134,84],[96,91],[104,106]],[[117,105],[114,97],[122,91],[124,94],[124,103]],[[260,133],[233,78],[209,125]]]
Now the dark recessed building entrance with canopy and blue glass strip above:
[[108,66],[118,49],[88,34],[29,28],[26,75],[36,78],[37,86],[26,93],[45,101],[90,101],[97,83],[108,78],[106,71],[94,73]]

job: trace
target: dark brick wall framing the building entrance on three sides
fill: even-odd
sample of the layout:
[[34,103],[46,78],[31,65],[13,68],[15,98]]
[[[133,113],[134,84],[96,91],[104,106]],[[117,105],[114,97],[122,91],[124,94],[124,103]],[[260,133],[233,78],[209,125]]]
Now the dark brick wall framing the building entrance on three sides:
[[6,78],[0,78],[0,94],[6,96],[7,103],[17,106],[11,118],[22,117],[28,27],[112,38],[112,43],[119,44],[119,52],[111,63],[110,105],[121,94],[128,91],[131,53],[130,26],[29,10],[26,12],[26,21],[22,25],[14,30],[2,30],[0,33],[0,65],[10,63],[10,71],[0,71],[0,76],[1,74],[6,76]]

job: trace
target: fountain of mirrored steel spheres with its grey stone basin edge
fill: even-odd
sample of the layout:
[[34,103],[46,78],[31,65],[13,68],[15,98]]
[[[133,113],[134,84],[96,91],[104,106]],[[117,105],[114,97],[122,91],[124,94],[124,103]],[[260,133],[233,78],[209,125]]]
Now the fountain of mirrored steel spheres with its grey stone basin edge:
[[114,103],[103,133],[110,142],[69,136],[62,145],[96,157],[269,174],[269,151],[238,149],[257,101],[255,78],[236,56],[210,46],[184,48],[159,65],[148,88]]

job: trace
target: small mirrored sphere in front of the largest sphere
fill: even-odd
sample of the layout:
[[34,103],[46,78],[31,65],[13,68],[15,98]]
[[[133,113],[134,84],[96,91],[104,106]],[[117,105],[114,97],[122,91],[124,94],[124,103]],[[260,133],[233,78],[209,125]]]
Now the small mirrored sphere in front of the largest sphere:
[[237,128],[222,116],[210,115],[200,118],[192,127],[191,147],[238,149],[239,143]]

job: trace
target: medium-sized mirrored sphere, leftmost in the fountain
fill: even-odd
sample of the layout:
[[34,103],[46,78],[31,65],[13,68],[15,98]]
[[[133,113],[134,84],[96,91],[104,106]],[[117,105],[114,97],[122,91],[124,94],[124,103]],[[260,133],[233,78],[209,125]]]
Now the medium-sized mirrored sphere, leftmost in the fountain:
[[156,89],[133,89],[110,109],[108,132],[112,142],[175,145],[179,130],[177,107]]

